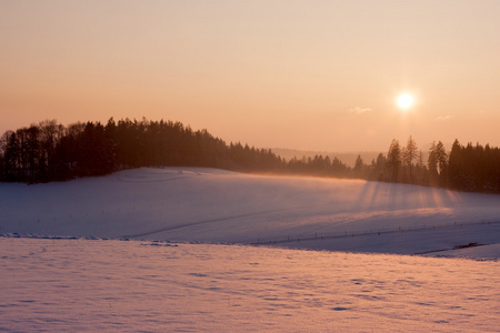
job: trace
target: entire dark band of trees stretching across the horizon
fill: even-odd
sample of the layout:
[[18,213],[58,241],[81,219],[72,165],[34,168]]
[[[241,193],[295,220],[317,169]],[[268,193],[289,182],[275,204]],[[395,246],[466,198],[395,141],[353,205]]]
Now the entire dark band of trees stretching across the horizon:
[[[424,158],[426,157],[426,158]],[[181,122],[119,120],[62,125],[46,120],[7,131],[0,138],[0,181],[50,182],[97,176],[140,167],[204,167],[242,172],[272,172],[359,178],[500,193],[500,151],[456,141],[447,152],[441,141],[424,154],[410,137],[392,140],[387,154],[371,163],[360,155],[353,167],[323,155],[289,161],[271,150],[240,142],[227,144],[207,130]]]

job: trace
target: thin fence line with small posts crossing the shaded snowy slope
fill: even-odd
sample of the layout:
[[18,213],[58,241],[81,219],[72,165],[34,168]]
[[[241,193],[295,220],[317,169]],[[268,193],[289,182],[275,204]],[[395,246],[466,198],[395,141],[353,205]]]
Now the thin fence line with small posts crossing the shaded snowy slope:
[[456,229],[471,225],[491,225],[491,224],[500,224],[500,220],[481,220],[481,221],[467,221],[467,222],[453,222],[440,225],[419,225],[419,226],[410,226],[410,228],[393,228],[393,229],[383,229],[378,231],[343,231],[339,233],[314,233],[310,235],[302,236],[287,236],[287,238],[276,238],[276,239],[258,239],[257,242],[250,242],[249,245],[269,245],[269,244],[283,244],[283,243],[292,243],[292,242],[303,242],[303,241],[321,241],[321,240],[333,240],[333,239],[346,239],[346,238],[359,238],[359,236],[368,236],[368,235],[382,235],[382,234],[391,234],[391,233],[404,233],[404,232],[416,232],[416,231],[429,231],[429,230],[443,230],[443,229]]

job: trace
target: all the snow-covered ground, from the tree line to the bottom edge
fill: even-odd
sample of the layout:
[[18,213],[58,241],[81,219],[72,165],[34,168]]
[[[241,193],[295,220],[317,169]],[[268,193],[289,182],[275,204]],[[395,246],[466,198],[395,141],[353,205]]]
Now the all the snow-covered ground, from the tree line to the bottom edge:
[[3,183],[0,331],[499,332],[499,195],[356,180]]

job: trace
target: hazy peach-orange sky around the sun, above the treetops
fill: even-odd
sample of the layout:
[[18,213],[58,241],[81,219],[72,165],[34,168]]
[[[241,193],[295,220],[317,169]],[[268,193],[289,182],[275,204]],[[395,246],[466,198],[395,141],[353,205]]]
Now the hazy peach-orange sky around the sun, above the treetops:
[[259,148],[500,145],[499,12],[497,0],[0,0],[0,132],[146,117]]

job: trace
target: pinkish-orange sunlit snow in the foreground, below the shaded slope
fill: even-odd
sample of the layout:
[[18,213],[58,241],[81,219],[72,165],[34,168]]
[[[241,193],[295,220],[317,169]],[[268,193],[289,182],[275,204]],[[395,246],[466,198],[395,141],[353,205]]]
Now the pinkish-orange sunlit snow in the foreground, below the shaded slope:
[[0,238],[0,331],[498,332],[500,263]]

